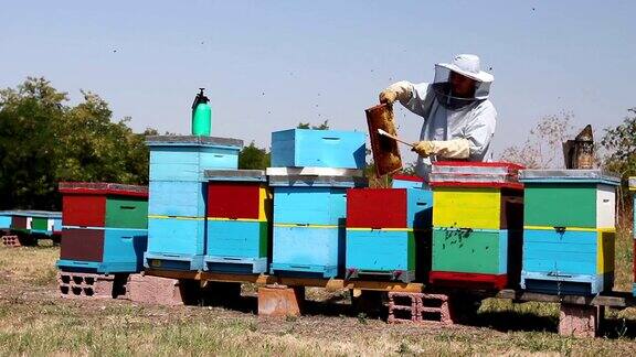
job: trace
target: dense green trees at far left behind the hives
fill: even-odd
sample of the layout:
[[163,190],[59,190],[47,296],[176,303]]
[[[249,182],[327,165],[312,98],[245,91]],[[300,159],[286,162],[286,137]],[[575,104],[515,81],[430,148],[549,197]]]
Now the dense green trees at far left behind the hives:
[[[61,181],[148,182],[144,134],[91,91],[70,106],[66,93],[29,77],[0,90],[0,208],[60,209]],[[156,132],[148,129],[147,133]]]

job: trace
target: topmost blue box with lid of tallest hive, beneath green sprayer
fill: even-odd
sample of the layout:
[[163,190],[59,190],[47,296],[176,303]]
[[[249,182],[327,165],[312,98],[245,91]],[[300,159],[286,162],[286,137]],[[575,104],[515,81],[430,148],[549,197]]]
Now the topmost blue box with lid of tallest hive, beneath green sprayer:
[[212,137],[148,137],[150,181],[203,181],[205,169],[239,167],[243,141]]

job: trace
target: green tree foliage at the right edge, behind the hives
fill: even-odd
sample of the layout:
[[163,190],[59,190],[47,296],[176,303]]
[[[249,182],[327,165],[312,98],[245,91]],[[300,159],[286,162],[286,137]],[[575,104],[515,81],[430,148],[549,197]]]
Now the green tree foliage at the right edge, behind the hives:
[[605,129],[601,144],[606,150],[604,167],[623,178],[636,175],[636,108],[615,128]]

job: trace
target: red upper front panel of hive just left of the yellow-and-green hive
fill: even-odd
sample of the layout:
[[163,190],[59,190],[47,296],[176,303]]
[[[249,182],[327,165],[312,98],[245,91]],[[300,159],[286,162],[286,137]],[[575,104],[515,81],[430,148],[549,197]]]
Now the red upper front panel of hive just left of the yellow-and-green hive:
[[406,190],[347,190],[347,227],[406,228]]

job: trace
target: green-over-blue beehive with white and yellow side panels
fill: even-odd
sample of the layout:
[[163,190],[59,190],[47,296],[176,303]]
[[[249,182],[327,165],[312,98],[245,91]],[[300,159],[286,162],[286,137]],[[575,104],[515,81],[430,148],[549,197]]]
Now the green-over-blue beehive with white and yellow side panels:
[[591,295],[614,284],[615,187],[598,170],[526,170],[521,286]]

